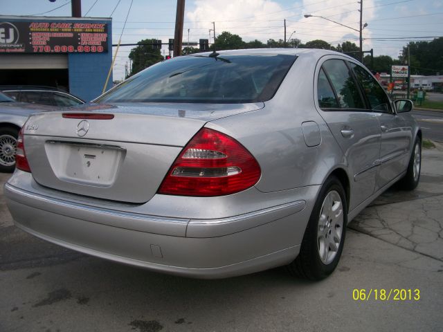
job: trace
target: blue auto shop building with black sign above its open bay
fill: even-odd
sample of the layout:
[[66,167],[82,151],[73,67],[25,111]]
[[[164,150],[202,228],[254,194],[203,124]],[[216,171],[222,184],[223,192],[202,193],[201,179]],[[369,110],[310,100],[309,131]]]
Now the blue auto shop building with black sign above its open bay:
[[0,16],[0,85],[55,86],[92,100],[111,67],[111,31],[110,18]]

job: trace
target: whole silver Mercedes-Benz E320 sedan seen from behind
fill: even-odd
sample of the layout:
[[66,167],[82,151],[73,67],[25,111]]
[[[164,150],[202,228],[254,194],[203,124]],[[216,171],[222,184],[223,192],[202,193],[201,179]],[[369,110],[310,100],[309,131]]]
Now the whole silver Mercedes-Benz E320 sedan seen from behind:
[[19,228],[112,261],[322,279],[356,214],[397,181],[417,186],[410,109],[329,50],[177,57],[93,104],[30,116],[5,194]]

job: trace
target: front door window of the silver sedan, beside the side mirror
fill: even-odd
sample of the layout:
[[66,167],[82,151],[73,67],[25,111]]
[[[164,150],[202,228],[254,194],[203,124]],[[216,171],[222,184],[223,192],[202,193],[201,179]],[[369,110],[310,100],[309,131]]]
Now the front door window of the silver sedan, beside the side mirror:
[[374,111],[389,112],[388,96],[377,80],[365,71],[364,68],[361,68],[361,66],[352,63],[350,63],[350,66],[363,88],[363,93],[366,95],[366,98],[368,98],[371,109]]

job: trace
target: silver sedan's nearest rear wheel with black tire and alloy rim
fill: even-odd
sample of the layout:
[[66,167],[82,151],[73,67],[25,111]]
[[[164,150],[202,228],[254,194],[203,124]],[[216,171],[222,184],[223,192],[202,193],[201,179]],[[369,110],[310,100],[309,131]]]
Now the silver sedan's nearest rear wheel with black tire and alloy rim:
[[343,251],[346,224],[345,190],[338,178],[331,176],[318,194],[300,253],[287,266],[289,272],[311,280],[324,279],[334,272]]

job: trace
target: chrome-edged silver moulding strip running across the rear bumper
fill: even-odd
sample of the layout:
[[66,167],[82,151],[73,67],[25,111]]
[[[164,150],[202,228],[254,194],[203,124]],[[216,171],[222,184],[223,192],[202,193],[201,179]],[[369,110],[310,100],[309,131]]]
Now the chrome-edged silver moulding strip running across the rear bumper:
[[55,214],[127,230],[175,237],[221,237],[282,219],[300,212],[306,206],[305,201],[295,201],[221,219],[180,219],[98,208],[55,199],[19,189],[9,183],[5,185],[5,194],[12,201]]

